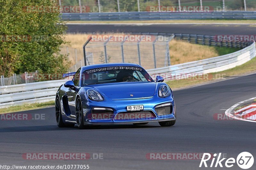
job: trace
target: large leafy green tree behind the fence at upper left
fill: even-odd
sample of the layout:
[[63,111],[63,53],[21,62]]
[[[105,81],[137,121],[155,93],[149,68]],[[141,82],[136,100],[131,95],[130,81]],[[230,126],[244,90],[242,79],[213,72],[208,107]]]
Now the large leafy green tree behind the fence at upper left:
[[[66,72],[67,56],[60,55],[65,44],[59,12],[40,12],[52,7],[53,0],[0,0],[0,75],[38,70],[41,73]],[[28,8],[29,7],[29,8]],[[28,9],[33,10],[28,10]],[[20,38],[20,39],[18,39]]]

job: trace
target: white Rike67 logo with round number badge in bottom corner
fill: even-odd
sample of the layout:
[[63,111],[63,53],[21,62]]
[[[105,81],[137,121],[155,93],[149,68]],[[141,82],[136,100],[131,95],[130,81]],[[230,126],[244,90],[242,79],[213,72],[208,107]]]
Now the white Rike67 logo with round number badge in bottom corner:
[[[221,153],[219,153],[219,154],[214,153],[211,165],[209,166],[209,164],[207,165],[206,162],[211,159],[211,154],[204,153],[199,167],[208,167],[208,166],[209,167],[223,167],[222,164],[224,164],[224,167],[230,168],[230,167],[234,166],[234,164],[236,163],[240,168],[248,169],[248,168],[252,167],[253,162],[254,162],[254,158],[253,158],[252,154],[249,152],[240,153],[236,157],[236,159],[235,158],[228,158],[228,159],[222,158],[221,159],[220,156],[221,156]],[[216,162],[215,162],[215,159],[216,159]],[[227,160],[225,160],[225,159],[227,159]]]

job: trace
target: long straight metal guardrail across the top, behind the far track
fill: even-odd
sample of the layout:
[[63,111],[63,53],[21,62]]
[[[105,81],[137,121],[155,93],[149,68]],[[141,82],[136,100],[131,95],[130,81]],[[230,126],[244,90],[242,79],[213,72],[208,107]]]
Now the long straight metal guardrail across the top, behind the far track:
[[256,11],[62,13],[62,20],[256,19]]

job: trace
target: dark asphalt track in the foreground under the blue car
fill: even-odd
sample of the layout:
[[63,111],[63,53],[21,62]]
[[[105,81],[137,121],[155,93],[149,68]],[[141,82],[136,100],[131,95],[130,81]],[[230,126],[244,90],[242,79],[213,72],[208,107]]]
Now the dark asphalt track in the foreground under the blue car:
[[[214,120],[235,103],[255,96],[256,74],[174,91],[177,122],[173,127],[112,125],[80,130],[58,128],[55,109],[21,113],[45,114],[45,120],[1,121],[0,164],[90,165],[90,169],[241,169],[199,168],[200,160],[148,160],[147,153],[226,153],[256,156],[255,123]],[[188,80],[189,81],[189,80]],[[99,160],[25,160],[23,153],[103,153]],[[224,163],[225,164],[225,163]],[[255,163],[254,163],[255,164]],[[210,166],[210,162],[208,163]],[[255,165],[253,165],[255,168]],[[254,169],[253,167],[251,169]]]

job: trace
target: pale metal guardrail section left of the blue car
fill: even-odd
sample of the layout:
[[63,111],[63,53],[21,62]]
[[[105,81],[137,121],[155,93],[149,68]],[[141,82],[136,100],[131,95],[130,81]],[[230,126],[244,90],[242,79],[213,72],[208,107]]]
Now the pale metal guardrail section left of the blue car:
[[35,103],[54,101],[55,95],[63,83],[67,80],[52,80],[36,83],[9,85],[0,87],[0,108],[19,105],[23,103]]

